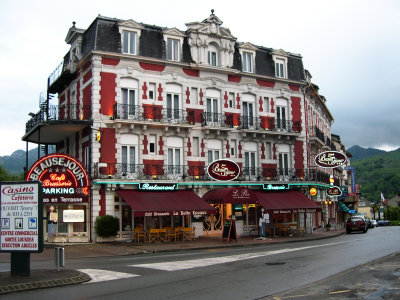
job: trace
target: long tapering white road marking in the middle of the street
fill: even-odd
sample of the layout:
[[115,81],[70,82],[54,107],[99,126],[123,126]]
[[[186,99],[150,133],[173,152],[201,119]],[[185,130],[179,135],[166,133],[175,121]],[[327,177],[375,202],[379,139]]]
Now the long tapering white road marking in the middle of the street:
[[223,263],[227,263],[227,262],[234,262],[234,261],[238,261],[238,260],[251,259],[251,258],[257,258],[257,257],[262,257],[262,256],[269,256],[269,255],[274,255],[274,254],[279,254],[279,253],[287,253],[287,252],[294,252],[294,251],[300,251],[300,250],[311,249],[311,248],[331,246],[331,245],[336,245],[336,244],[340,244],[340,243],[344,243],[344,242],[329,243],[329,244],[299,247],[299,248],[286,248],[286,249],[280,249],[280,250],[275,250],[275,251],[238,254],[238,255],[231,255],[231,256],[225,256],[225,257],[201,258],[201,259],[171,261],[171,262],[151,263],[151,264],[138,264],[138,265],[129,265],[129,266],[130,267],[138,267],[138,268],[157,269],[157,270],[163,270],[163,271],[179,271],[179,270],[186,270],[186,269],[192,269],[192,268],[206,267],[206,266],[211,266],[211,265],[216,265],[216,264],[223,264]]

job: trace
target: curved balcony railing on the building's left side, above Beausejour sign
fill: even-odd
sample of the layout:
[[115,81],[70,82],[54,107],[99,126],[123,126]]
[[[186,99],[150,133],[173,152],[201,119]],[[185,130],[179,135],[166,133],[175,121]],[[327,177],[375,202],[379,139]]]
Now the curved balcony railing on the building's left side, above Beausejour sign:
[[50,105],[47,115],[46,108],[43,107],[38,113],[26,123],[26,132],[35,127],[38,123],[45,121],[61,121],[61,120],[90,120],[92,117],[91,106],[71,105]]

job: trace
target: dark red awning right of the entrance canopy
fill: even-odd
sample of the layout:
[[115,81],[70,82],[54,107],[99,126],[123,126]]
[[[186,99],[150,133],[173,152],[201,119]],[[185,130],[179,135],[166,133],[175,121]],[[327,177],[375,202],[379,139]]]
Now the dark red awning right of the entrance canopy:
[[321,206],[300,191],[256,192],[259,204],[269,213],[311,213],[321,210]]

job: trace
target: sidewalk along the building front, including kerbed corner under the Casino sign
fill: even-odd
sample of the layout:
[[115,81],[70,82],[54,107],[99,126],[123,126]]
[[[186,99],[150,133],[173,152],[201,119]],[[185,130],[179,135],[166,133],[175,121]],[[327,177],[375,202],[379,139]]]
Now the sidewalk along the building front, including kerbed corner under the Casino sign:
[[[213,249],[222,247],[253,247],[265,244],[283,244],[305,240],[317,240],[330,238],[344,234],[344,229],[334,231],[314,231],[313,234],[306,234],[304,237],[273,237],[268,240],[257,240],[254,237],[241,237],[237,241],[229,243],[221,242],[221,237],[200,237],[194,241],[170,242],[170,243],[91,243],[91,244],[46,244],[42,253],[31,253],[31,261],[54,260],[54,247],[65,247],[65,260],[82,257],[102,257],[117,255],[133,255],[166,251],[187,251],[192,249]],[[10,253],[0,253],[0,263],[10,263]],[[11,268],[11,266],[10,266]],[[50,270],[33,270],[31,276],[11,276],[10,272],[0,272],[0,294],[77,284],[90,281],[90,277],[76,270],[62,268],[60,272],[56,267]]]

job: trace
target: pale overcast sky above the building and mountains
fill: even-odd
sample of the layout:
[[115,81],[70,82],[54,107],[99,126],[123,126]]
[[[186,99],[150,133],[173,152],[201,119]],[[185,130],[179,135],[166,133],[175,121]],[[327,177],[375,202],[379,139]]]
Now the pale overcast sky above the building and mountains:
[[347,148],[400,147],[400,1],[15,0],[0,2],[0,156],[25,150],[28,113],[69,50],[72,21],[86,29],[101,14],[185,30],[211,9],[239,42],[302,55]]

